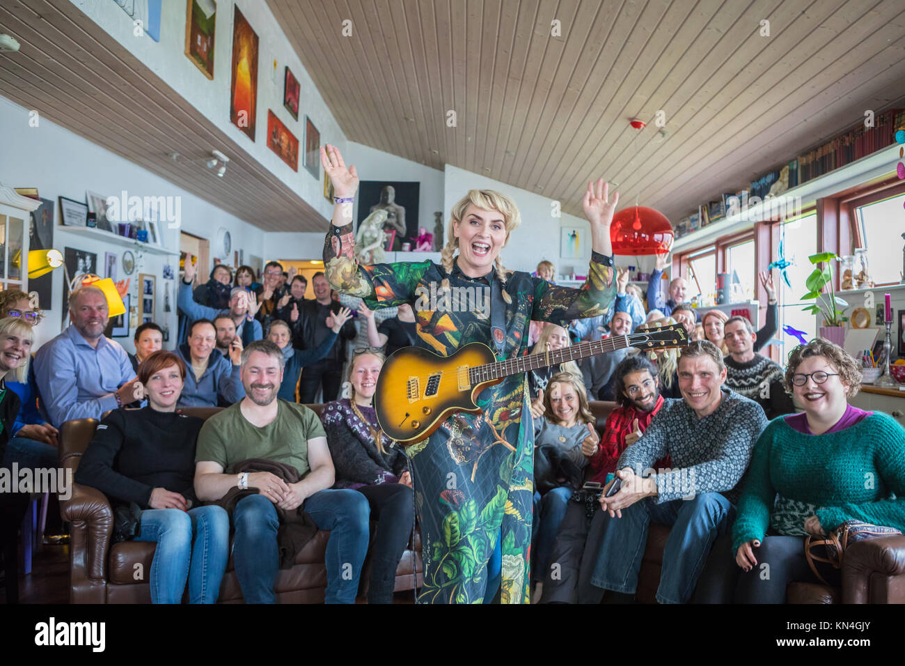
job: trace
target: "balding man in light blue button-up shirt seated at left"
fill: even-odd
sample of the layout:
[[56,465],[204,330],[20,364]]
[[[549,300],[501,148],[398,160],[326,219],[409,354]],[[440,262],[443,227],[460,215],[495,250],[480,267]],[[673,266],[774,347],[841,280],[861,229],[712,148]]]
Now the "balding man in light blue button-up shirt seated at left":
[[92,286],[72,292],[69,316],[69,327],[34,357],[41,409],[57,428],[66,420],[100,420],[139,397],[129,354],[104,336],[110,320],[104,293]]

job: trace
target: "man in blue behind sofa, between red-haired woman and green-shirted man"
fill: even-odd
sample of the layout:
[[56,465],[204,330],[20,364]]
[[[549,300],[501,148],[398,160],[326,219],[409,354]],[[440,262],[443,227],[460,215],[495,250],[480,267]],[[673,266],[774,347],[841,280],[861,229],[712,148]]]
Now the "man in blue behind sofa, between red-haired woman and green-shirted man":
[[179,407],[228,407],[245,397],[242,386],[242,341],[236,337],[229,357],[214,353],[214,323],[199,319],[188,330],[188,342],[177,349],[186,362],[186,383]]

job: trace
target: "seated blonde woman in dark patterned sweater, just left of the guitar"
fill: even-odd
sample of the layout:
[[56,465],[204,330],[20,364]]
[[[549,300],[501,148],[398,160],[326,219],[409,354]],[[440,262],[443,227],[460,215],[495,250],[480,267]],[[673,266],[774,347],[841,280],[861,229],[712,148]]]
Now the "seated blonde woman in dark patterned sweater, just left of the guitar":
[[362,493],[377,521],[367,603],[393,603],[395,572],[414,523],[405,454],[380,430],[372,405],[384,360],[376,350],[357,350],[348,368],[349,397],[328,402],[321,416],[336,468],[333,487]]

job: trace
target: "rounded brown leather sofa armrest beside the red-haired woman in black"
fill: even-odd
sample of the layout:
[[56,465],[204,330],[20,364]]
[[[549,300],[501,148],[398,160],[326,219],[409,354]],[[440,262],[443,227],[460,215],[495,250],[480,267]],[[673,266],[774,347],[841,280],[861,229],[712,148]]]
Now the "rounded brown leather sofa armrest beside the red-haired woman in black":
[[88,578],[104,580],[113,532],[110,501],[97,488],[73,483],[72,496],[60,500],[60,514],[64,521],[71,523],[73,570],[83,568]]

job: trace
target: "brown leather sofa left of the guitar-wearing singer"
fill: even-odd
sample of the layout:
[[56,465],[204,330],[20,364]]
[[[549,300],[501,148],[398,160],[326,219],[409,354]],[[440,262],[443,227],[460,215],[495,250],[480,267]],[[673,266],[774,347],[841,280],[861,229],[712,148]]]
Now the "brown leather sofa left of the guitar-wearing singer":
[[[309,405],[320,414],[321,405]],[[192,408],[186,413],[206,419],[219,409]],[[71,420],[60,429],[60,457],[63,468],[72,470],[74,476],[81,454],[94,436],[98,421],[95,419]],[[150,603],[151,594],[147,582],[136,581],[133,575],[140,564],[150,572],[156,545],[145,542],[110,544],[113,529],[113,511],[110,502],[100,490],[72,484],[72,496],[61,500],[63,520],[71,524],[70,545],[70,602],[71,603]],[[372,530],[373,534],[373,530]],[[291,569],[281,569],[277,575],[277,603],[323,603],[327,588],[327,566],[324,564],[329,531],[320,530],[296,556]],[[365,562],[359,598],[367,594],[370,563]],[[414,544],[402,556],[396,569],[395,591],[414,589],[423,582],[421,562],[421,536],[416,531]],[[233,557],[226,565],[220,586],[219,603],[242,603],[242,590],[233,569]]]

